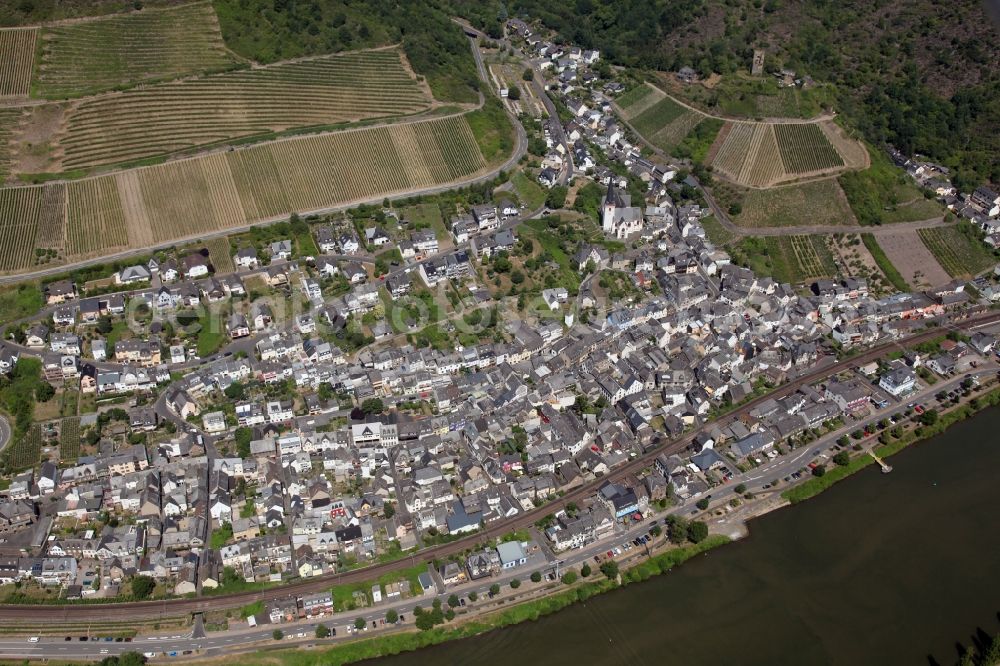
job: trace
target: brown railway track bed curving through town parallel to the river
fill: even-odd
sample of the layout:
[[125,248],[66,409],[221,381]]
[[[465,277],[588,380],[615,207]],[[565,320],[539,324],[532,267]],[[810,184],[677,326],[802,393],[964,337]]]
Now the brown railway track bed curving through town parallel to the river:
[[[947,327],[956,330],[971,330],[987,325],[993,325],[998,322],[1000,322],[1000,313],[992,312],[963,321],[952,323],[945,322],[945,324]],[[793,393],[802,386],[814,384],[844,370],[860,367],[881,358],[889,352],[898,350],[901,346],[913,346],[915,344],[934,339],[942,334],[942,330],[947,330],[947,328],[945,328],[945,326],[931,328],[923,333],[918,333],[907,338],[873,347],[872,349],[862,352],[847,361],[826,364],[820,369],[803,374],[802,376],[783,384],[775,391],[755,398],[754,400],[751,400],[743,406],[733,410],[719,421],[707,423],[701,428],[688,433],[680,439],[671,442],[661,441],[659,446],[653,448],[644,455],[636,456],[633,460],[614,470],[612,476],[613,478],[621,478],[628,474],[637,473],[647,467],[660,453],[666,453],[668,455],[683,453],[691,445],[695,436],[702,434],[703,432],[707,432],[716,426],[725,426],[737,419],[742,418],[743,416],[748,415],[751,410],[766,400],[780,398]],[[531,511],[522,512],[510,520],[495,523],[488,526],[482,532],[471,534],[451,543],[425,548],[418,553],[419,558],[411,556],[411,563],[426,562],[435,558],[447,557],[448,555],[460,553],[466,548],[475,547],[477,544],[488,539],[502,536],[512,530],[530,528],[536,521],[549,513],[558,511],[567,503],[579,503],[585,498],[590,497],[606,480],[606,478],[594,479],[575,488],[574,490],[567,492],[559,499],[558,502],[546,504]],[[400,564],[401,563],[399,562],[377,564],[364,567],[362,569],[356,569],[354,571],[290,582],[282,586],[281,593],[289,595],[310,594],[324,591],[331,585],[363,582],[377,578],[384,573],[388,573],[398,568]],[[108,619],[162,618],[234,608],[248,603],[253,603],[255,601],[273,599],[274,596],[274,590],[265,590],[198,599],[168,599],[152,602],[102,604],[99,607],[88,605],[19,606],[16,604],[5,604],[0,605],[0,619],[45,621],[46,619],[68,620],[74,617],[86,618],[90,617],[97,608],[100,609],[101,615]]]

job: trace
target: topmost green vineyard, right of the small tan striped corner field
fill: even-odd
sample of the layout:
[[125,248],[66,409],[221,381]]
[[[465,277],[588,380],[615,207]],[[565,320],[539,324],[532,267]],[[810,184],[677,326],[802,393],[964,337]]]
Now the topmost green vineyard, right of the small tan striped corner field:
[[65,99],[241,66],[209,2],[42,28],[34,93]]

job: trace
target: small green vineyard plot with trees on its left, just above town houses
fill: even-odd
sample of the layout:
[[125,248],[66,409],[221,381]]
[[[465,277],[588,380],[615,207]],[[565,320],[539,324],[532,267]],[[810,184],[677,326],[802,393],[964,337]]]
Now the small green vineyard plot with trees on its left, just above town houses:
[[760,275],[793,285],[837,275],[837,264],[826,236],[745,238],[733,248],[733,258]]

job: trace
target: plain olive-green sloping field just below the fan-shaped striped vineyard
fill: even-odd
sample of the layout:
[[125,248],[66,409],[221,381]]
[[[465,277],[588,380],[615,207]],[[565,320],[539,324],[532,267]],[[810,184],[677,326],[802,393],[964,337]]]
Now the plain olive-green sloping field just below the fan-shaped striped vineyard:
[[816,180],[767,190],[740,190],[728,184],[713,189],[734,223],[741,227],[835,226],[856,224],[836,180]]

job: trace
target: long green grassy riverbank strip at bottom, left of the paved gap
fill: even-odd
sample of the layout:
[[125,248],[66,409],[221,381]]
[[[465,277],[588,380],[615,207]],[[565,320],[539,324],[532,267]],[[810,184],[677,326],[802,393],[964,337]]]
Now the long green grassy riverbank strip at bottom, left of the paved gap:
[[[713,535],[699,544],[685,546],[683,548],[672,548],[659,555],[637,564],[621,572],[621,586],[639,582],[670,571],[674,567],[683,564],[695,555],[704,553],[712,548],[729,543],[725,536]],[[240,658],[243,666],[341,666],[351,664],[365,659],[376,657],[386,657],[400,652],[409,652],[423,647],[439,645],[446,641],[469,638],[479,634],[502,629],[521,622],[537,620],[545,615],[558,612],[567,606],[579,601],[585,601],[595,595],[603,594],[617,587],[615,581],[609,580],[597,572],[591,579],[585,582],[568,587],[561,592],[551,594],[540,599],[514,604],[509,608],[490,611],[481,617],[459,620],[452,626],[439,626],[428,631],[400,632],[386,634],[377,638],[366,638],[337,645],[329,649],[303,651],[303,650],[278,650],[261,651]]]

